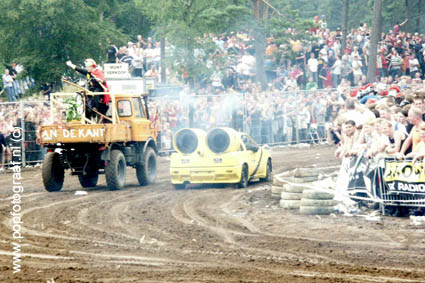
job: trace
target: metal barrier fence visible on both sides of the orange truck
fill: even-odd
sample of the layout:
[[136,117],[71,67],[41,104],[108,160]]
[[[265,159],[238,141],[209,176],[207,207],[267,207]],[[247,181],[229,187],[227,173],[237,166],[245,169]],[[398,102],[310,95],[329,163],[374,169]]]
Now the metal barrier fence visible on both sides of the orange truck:
[[[314,92],[307,92],[310,93]],[[165,153],[172,150],[172,135],[185,127],[231,127],[248,133],[258,144],[270,146],[326,142],[326,107],[311,118],[302,103],[305,94],[306,91],[163,96],[150,100],[150,113],[154,116],[155,108],[159,109],[158,144]],[[9,146],[19,147],[22,152],[12,159],[10,151],[2,148],[0,168],[11,160],[22,162],[23,166],[34,166],[43,160],[45,152],[37,142],[37,129],[49,123],[49,106],[46,101],[0,103],[0,133]],[[11,139],[14,129],[22,131],[19,141]]]

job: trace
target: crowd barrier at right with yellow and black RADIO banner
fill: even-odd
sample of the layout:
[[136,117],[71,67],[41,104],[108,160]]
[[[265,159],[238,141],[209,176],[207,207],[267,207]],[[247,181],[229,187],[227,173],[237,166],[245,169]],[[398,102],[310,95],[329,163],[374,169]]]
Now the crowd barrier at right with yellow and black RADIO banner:
[[425,207],[423,161],[360,154],[343,160],[339,178],[350,198],[379,203],[383,214],[385,206]]

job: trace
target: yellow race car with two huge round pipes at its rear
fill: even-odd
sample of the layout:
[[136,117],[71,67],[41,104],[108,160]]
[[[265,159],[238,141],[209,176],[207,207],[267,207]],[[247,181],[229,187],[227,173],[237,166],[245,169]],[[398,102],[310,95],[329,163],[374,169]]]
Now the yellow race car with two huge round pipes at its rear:
[[188,184],[233,183],[246,188],[254,179],[270,181],[272,157],[248,135],[231,128],[181,129],[173,139],[171,183],[176,189]]

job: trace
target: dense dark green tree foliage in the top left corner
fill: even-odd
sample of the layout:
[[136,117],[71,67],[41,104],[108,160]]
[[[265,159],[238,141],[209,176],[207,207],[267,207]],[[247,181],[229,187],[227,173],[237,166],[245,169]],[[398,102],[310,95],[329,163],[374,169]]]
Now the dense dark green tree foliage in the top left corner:
[[82,0],[3,0],[0,10],[0,59],[37,82],[60,81],[67,60],[102,61],[107,38],[123,37]]

